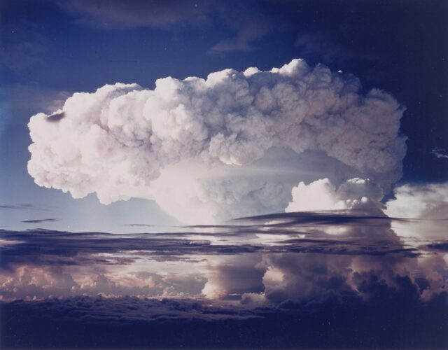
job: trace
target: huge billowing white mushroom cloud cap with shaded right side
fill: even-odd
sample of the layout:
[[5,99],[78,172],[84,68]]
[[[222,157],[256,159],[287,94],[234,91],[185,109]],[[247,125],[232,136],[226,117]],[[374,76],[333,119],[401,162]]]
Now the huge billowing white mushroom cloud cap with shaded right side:
[[400,179],[404,109],[351,75],[294,59],[155,85],[105,85],[73,94],[64,118],[31,117],[29,174],[104,204],[153,199],[186,223],[284,209],[299,181]]

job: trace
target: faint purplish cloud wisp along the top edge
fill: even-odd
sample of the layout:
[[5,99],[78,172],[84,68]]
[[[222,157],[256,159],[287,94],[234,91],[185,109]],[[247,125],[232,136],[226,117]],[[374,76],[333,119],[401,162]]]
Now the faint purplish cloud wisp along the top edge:
[[171,29],[179,25],[207,26],[212,20],[218,20],[234,31],[235,36],[219,41],[209,50],[212,54],[253,50],[253,43],[272,29],[272,21],[263,16],[258,4],[252,1],[69,0],[55,3],[73,15],[79,24],[102,29]]

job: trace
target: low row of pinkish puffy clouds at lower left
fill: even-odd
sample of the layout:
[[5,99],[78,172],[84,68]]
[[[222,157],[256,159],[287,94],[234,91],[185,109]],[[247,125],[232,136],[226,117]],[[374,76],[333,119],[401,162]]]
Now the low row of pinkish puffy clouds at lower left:
[[[95,269],[99,267],[95,266]],[[164,274],[137,271],[122,276],[117,272],[98,274],[82,268],[77,271],[73,268],[20,265],[12,271],[0,271],[0,300],[36,300],[49,295],[197,297],[204,288],[204,279],[197,274],[176,275],[166,271]]]

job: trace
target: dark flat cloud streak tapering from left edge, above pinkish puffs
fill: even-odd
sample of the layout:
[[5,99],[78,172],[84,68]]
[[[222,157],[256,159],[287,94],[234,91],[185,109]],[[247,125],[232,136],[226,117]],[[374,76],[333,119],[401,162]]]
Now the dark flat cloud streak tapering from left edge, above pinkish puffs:
[[[195,233],[197,235],[197,232]],[[182,234],[180,234],[182,235]],[[124,263],[119,256],[97,257],[100,253],[120,253],[135,251],[141,255],[145,251],[155,257],[167,255],[197,254],[238,254],[258,251],[260,246],[250,244],[210,244],[209,241],[195,239],[174,239],[157,237],[153,234],[113,235],[102,232],[59,232],[52,230],[29,230],[22,232],[0,231],[0,237],[17,241],[0,248],[3,268],[22,263],[32,265],[83,265],[87,261],[97,264]],[[134,255],[129,257],[132,261]]]

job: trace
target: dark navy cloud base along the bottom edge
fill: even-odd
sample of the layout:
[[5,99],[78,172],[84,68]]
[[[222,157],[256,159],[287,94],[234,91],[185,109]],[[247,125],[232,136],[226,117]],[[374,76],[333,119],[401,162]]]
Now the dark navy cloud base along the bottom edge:
[[423,303],[409,279],[398,283],[365,285],[370,302],[328,297],[251,311],[137,297],[19,300],[1,304],[1,347],[446,349],[447,293]]

